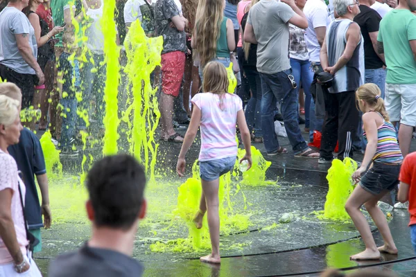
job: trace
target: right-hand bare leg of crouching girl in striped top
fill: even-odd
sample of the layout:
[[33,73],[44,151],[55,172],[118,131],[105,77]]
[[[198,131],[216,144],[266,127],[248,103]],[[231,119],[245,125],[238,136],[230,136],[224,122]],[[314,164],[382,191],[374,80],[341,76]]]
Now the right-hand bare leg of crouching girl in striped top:
[[387,219],[385,218],[384,213],[381,211],[379,206],[377,206],[377,202],[386,194],[390,193],[388,190],[383,190],[376,198],[371,199],[370,201],[366,202],[365,208],[367,212],[370,213],[372,220],[376,224],[377,228],[379,229],[381,235],[383,236],[384,245],[379,247],[380,252],[390,253],[390,254],[397,254],[396,244],[393,241],[392,234],[390,233],[390,228],[388,227]]

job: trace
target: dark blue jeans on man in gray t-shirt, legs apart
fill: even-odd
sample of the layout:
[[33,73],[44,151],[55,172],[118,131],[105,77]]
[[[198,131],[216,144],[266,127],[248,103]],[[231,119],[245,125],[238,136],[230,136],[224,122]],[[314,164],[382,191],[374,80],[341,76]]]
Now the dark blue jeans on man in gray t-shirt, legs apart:
[[291,73],[291,69],[274,74],[259,73],[261,90],[263,91],[263,97],[261,98],[261,129],[263,130],[264,146],[268,153],[276,152],[279,149],[273,118],[277,102],[281,104],[284,127],[293,152],[300,154],[308,148],[297,122],[297,94],[288,78]]

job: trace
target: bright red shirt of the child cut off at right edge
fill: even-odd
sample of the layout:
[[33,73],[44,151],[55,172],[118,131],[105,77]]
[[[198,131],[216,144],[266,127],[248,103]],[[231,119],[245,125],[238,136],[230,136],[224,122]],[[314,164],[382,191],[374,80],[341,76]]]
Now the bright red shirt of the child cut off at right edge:
[[409,185],[410,226],[416,224],[416,152],[408,154],[404,159],[399,179]]

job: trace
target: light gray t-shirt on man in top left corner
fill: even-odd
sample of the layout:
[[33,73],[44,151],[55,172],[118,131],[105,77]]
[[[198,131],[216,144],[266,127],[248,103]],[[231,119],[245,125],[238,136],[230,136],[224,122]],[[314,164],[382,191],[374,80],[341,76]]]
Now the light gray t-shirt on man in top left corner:
[[4,8],[0,12],[0,33],[0,64],[18,73],[35,74],[35,70],[21,56],[15,37],[19,34],[28,34],[33,56],[37,58],[35,30],[33,30],[28,17],[17,8]]

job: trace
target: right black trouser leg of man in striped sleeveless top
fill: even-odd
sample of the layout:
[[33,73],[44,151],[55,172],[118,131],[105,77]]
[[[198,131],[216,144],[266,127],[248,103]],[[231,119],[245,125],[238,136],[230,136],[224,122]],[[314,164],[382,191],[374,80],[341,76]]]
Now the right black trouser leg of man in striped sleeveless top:
[[355,91],[337,93],[339,103],[338,114],[338,159],[353,157],[352,138],[356,136],[358,125],[358,109],[356,107]]

